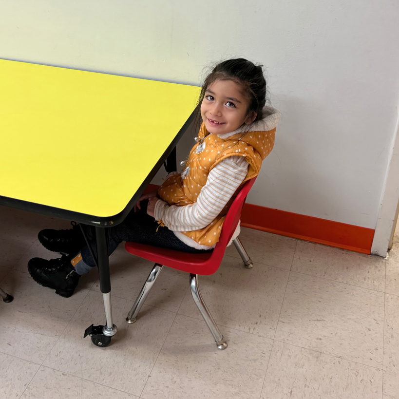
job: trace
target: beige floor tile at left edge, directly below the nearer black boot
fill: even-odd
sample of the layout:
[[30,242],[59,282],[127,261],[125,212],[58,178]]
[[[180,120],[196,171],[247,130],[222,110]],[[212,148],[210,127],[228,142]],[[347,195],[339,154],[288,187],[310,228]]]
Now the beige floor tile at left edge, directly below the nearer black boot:
[[62,298],[18,270],[1,285],[14,301],[0,308],[1,324],[7,326],[0,329],[0,351],[41,364],[89,291]]

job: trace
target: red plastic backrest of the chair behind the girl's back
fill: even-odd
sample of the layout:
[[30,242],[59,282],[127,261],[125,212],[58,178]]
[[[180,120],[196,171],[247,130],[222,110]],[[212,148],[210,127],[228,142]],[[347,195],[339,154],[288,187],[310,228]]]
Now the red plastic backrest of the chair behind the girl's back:
[[235,229],[237,228],[238,222],[241,217],[241,209],[243,209],[248,192],[255,183],[255,180],[256,176],[252,179],[249,179],[244,184],[243,188],[240,190],[230,208],[228,209],[226,219],[223,223],[222,232],[219,237],[219,241],[216,244],[215,249],[213,250],[212,258],[218,257],[218,255],[220,256],[219,252],[222,252],[221,255],[223,257],[226,246],[228,245]]

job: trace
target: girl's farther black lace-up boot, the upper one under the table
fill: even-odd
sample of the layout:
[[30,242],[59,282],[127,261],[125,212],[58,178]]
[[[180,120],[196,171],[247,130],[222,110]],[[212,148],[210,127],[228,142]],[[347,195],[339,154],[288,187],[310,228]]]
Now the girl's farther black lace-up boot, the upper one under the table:
[[[86,241],[82,231],[75,222],[71,222],[69,230],[53,230],[46,228],[38,233],[40,244],[50,251],[76,254],[84,247]],[[89,236],[89,239],[91,237]]]

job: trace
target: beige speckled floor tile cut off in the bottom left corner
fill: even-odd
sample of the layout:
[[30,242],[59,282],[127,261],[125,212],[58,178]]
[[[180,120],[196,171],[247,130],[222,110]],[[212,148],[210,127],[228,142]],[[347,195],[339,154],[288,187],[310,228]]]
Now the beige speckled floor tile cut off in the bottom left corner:
[[39,367],[0,352],[0,398],[19,398]]

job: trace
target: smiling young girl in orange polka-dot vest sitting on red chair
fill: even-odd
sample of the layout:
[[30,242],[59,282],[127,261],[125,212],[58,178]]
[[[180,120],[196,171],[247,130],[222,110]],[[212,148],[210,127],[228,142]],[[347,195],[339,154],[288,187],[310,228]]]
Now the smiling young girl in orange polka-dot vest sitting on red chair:
[[[236,194],[259,173],[273,148],[279,113],[265,103],[262,66],[243,58],[218,64],[202,86],[203,123],[183,171],[143,195],[125,221],[111,228],[109,253],[122,241],[186,252],[211,250]],[[238,226],[232,239],[239,232]],[[95,266],[80,228],[42,230],[38,237],[47,249],[69,255],[33,258],[29,273],[39,284],[70,297],[79,277]],[[95,241],[91,247],[96,253]]]

